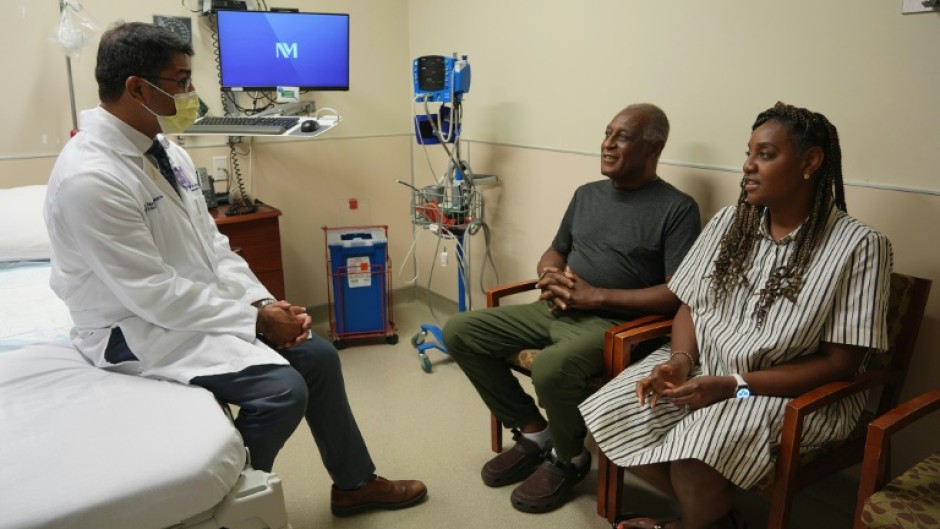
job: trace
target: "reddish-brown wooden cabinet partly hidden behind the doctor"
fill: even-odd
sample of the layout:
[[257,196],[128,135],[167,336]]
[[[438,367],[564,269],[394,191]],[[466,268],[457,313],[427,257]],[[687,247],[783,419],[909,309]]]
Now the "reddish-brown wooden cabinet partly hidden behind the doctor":
[[225,214],[227,208],[212,208],[209,215],[228,237],[232,250],[241,255],[251,271],[277,299],[284,299],[284,267],[281,263],[280,210],[258,206],[246,215]]

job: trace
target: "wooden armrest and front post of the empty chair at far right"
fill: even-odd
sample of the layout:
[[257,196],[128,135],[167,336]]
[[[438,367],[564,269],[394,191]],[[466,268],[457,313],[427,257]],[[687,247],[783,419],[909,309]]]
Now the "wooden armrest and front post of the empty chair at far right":
[[858,503],[855,519],[860,520],[865,500],[881,490],[890,479],[888,461],[891,436],[909,424],[940,410],[940,390],[928,391],[868,423],[865,457],[858,480]]

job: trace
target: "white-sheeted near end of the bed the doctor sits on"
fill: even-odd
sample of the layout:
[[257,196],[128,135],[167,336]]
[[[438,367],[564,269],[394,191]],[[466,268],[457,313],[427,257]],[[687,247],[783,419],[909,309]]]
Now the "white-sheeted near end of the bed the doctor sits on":
[[98,369],[61,344],[0,350],[2,529],[171,527],[244,465],[201,388]]

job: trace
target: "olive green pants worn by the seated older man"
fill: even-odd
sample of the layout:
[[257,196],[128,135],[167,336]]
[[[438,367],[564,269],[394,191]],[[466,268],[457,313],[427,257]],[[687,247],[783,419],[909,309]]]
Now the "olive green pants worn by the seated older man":
[[552,314],[548,307],[540,301],[457,313],[444,326],[444,345],[493,415],[513,428],[540,413],[506,358],[541,349],[532,385],[558,458],[568,462],[584,449],[587,429],[578,404],[591,393],[589,380],[603,370],[604,331],[624,320],[574,310]]

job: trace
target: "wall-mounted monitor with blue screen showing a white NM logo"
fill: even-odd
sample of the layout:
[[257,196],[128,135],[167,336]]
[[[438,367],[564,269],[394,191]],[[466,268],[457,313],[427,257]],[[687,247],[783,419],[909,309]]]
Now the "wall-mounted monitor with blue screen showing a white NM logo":
[[222,90],[349,90],[349,15],[219,11]]

